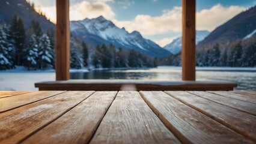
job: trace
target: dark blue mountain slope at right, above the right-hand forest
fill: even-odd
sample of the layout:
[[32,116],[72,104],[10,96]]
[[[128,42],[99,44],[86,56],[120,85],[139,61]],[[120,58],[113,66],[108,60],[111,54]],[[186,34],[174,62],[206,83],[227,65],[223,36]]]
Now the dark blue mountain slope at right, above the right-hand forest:
[[243,11],[228,22],[218,26],[208,37],[198,44],[198,48],[211,46],[216,43],[231,43],[243,39],[256,30],[256,6]]

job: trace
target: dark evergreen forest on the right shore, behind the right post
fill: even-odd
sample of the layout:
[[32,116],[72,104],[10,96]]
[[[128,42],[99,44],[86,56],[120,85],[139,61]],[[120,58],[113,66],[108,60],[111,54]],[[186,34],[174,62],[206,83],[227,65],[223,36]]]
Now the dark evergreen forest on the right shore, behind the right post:
[[[199,67],[256,67],[256,35],[247,40],[213,44],[196,53]],[[160,59],[158,65],[181,65],[181,54]]]

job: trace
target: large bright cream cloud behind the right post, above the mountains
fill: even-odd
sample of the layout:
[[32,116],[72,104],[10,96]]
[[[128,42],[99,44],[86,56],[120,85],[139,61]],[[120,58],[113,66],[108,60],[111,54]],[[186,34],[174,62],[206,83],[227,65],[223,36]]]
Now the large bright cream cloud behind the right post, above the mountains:
[[[214,5],[210,9],[197,12],[197,29],[213,31],[217,26],[236,16],[245,7],[230,6],[223,7],[221,4]],[[181,32],[181,7],[174,7],[172,10],[163,10],[161,16],[152,17],[149,15],[138,15],[130,21],[113,22],[127,31],[139,31],[142,35],[165,34],[168,32]]]

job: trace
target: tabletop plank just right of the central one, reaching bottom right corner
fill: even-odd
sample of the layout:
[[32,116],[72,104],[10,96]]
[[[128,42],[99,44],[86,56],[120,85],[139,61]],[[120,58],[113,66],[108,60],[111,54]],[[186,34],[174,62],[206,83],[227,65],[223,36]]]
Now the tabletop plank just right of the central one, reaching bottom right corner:
[[140,93],[182,143],[254,143],[162,91]]

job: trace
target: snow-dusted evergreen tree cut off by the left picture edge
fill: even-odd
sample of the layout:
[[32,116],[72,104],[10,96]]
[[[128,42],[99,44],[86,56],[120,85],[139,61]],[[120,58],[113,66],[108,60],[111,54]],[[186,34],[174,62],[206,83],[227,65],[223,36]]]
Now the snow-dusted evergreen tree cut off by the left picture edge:
[[4,30],[0,29],[0,70],[7,70],[12,67],[10,59],[8,59],[7,35]]

